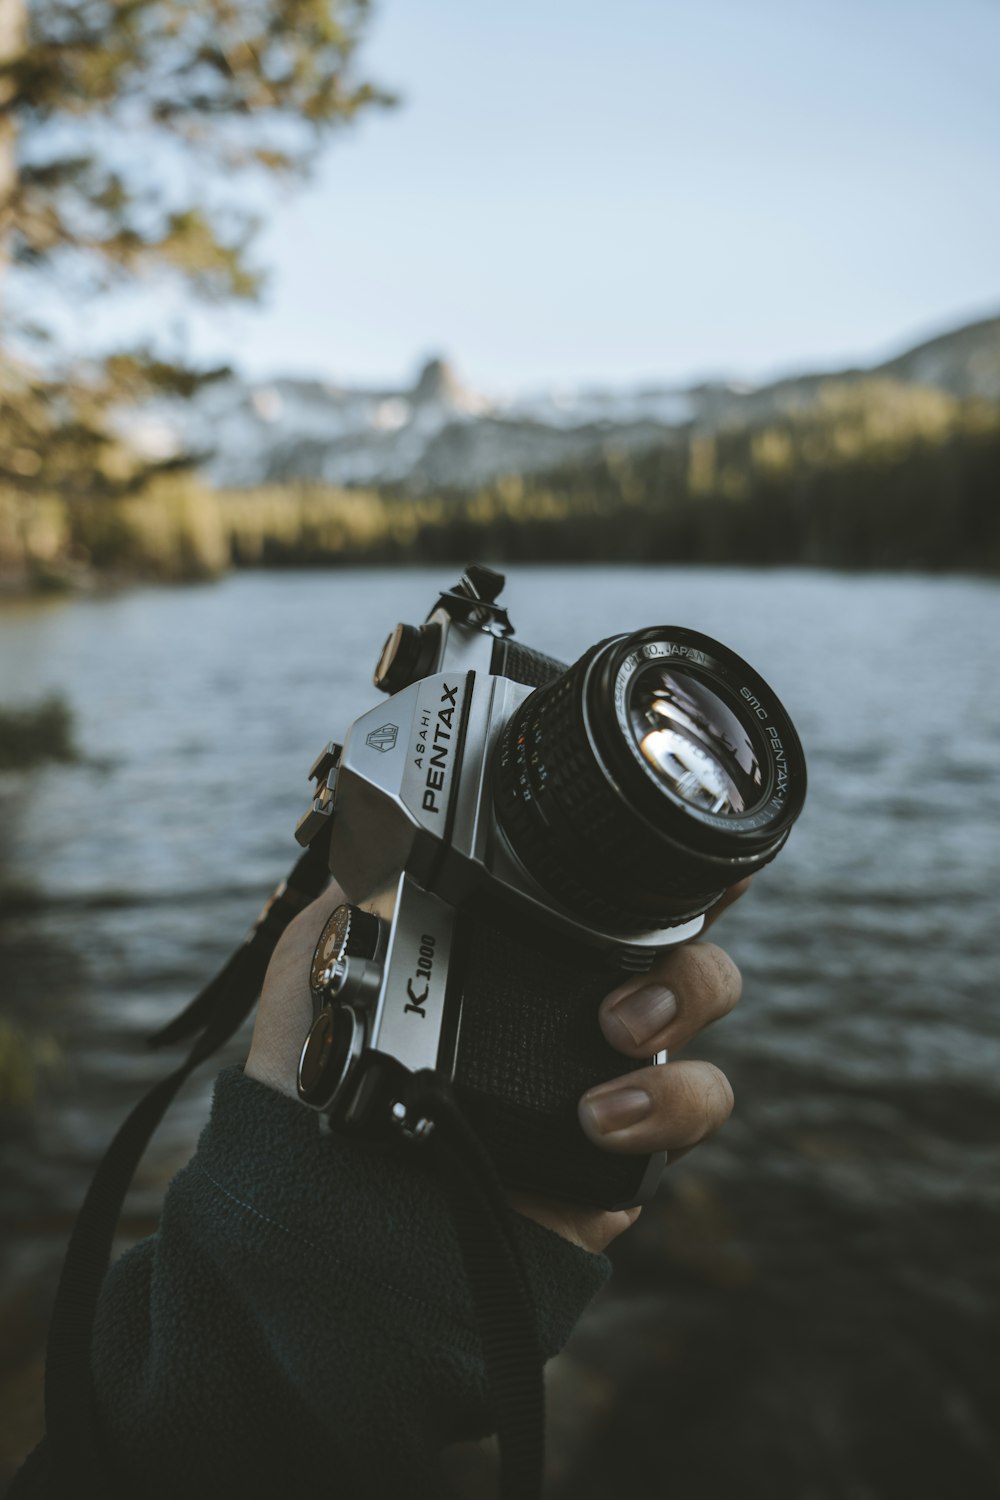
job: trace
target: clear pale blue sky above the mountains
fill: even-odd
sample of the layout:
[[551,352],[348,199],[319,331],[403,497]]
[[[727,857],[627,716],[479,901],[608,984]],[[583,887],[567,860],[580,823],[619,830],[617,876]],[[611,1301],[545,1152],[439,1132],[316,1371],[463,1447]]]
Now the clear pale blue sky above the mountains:
[[997,0],[381,0],[400,106],[271,200],[262,303],[187,350],[498,394],[873,362],[1000,312],[999,57]]

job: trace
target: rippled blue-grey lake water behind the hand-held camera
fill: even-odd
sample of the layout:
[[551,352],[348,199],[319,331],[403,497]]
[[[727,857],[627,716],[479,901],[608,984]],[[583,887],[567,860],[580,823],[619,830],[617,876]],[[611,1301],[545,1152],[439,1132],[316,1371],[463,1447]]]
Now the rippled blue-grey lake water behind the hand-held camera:
[[[165,1071],[145,1035],[294,860],[306,771],[378,696],[387,630],[450,582],[246,573],[0,609],[0,702],[60,692],[82,750],[0,782],[4,1010],[66,1059],[6,1149],[31,1230],[7,1240],[12,1286],[55,1256],[102,1142]],[[787,849],[718,930],[745,996],[699,1052],[735,1118],[621,1242],[615,1294],[558,1362],[553,1492],[607,1494],[628,1454],[639,1494],[673,1476],[699,1500],[1000,1496],[1000,586],[516,568],[505,598],[567,660],[648,624],[718,636],[810,762]],[[207,1088],[168,1118],[136,1221]]]

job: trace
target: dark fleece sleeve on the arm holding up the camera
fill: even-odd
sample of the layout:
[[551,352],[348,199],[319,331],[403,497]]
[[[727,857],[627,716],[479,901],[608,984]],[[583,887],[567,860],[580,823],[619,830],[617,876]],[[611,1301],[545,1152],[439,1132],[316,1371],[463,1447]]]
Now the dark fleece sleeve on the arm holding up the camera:
[[[517,1216],[546,1358],[609,1275]],[[411,1161],[219,1076],[160,1228],[102,1293],[100,1424],[126,1494],[435,1494],[439,1450],[490,1430],[444,1196]],[[307,1490],[309,1486],[309,1490]],[[318,1486],[318,1488],[316,1488]]]

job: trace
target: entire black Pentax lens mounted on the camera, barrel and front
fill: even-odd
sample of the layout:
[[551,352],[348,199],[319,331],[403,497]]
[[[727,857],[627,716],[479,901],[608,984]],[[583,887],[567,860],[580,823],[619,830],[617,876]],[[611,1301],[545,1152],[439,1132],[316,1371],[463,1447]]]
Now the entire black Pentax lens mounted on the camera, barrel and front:
[[615,636],[517,708],[493,759],[499,826],[576,916],[670,927],[778,854],[805,758],[768,684],[694,630]]

